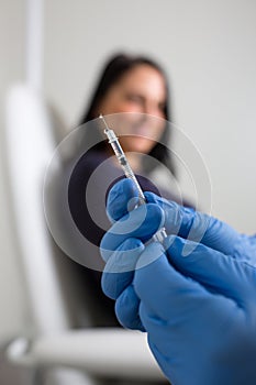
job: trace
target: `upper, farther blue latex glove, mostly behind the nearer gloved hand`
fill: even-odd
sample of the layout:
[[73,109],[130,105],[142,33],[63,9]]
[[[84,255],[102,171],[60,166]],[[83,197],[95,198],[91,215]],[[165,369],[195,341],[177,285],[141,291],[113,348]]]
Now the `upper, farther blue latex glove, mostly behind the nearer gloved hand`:
[[[153,212],[154,229],[165,226],[168,234],[177,234],[191,241],[203,243],[211,249],[256,266],[255,235],[241,234],[225,222],[193,209],[179,206],[174,201],[168,201],[153,193],[145,193],[145,197],[148,204],[156,204],[164,211],[164,218],[160,218],[158,215],[156,219],[153,219]],[[137,201],[137,190],[133,182],[131,179],[120,180],[112,187],[108,197],[107,212],[109,219],[112,222],[121,218],[125,219]],[[138,216],[134,218],[138,220]],[[135,228],[136,223],[131,223],[131,226]]]

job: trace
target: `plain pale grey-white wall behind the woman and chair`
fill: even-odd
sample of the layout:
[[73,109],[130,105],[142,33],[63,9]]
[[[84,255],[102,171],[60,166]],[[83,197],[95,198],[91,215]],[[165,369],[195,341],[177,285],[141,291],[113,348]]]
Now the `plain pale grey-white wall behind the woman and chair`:
[[[25,1],[0,4],[3,101],[8,85],[24,78]],[[175,122],[209,168],[213,213],[255,232],[255,14],[252,0],[45,0],[45,95],[74,128],[110,53],[129,50],[155,57],[171,80]],[[3,110],[0,121],[2,135]],[[4,182],[3,156],[0,162]],[[7,195],[3,183],[0,294],[11,277],[22,307]]]

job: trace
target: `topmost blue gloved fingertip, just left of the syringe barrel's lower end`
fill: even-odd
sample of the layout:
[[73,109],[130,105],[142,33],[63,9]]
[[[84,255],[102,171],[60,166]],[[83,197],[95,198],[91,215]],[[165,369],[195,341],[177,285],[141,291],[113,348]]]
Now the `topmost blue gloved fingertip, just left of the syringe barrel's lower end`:
[[129,179],[119,180],[110,190],[107,199],[107,215],[114,222],[132,211],[138,204],[138,191]]

